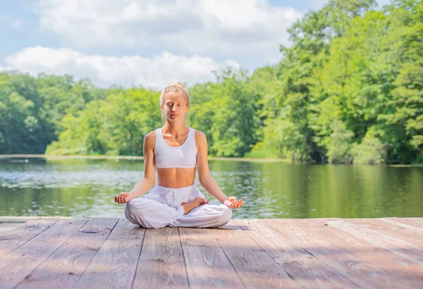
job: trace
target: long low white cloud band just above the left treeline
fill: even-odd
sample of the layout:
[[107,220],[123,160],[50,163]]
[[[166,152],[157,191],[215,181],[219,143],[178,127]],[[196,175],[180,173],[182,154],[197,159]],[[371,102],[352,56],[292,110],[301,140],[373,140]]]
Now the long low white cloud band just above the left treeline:
[[161,89],[173,81],[195,83],[215,81],[212,70],[226,66],[239,68],[235,61],[216,63],[202,56],[178,56],[164,51],[152,58],[141,56],[99,56],[83,54],[73,49],[28,47],[6,57],[4,70],[18,69],[37,75],[70,74],[75,79],[90,78],[100,87],[142,85]]

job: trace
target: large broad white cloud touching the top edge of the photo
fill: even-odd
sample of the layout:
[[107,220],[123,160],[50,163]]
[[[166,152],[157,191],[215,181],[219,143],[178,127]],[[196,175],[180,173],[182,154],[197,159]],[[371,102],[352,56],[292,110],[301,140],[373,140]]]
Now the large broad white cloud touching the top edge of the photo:
[[266,0],[39,0],[39,25],[66,46],[146,47],[276,62],[302,16]]

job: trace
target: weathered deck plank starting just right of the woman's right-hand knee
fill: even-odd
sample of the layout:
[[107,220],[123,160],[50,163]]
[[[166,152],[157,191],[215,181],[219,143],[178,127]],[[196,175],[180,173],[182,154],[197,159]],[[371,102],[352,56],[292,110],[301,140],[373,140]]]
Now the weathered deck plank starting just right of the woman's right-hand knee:
[[247,235],[271,256],[291,278],[308,288],[355,288],[354,281],[327,266],[262,219],[234,219]]

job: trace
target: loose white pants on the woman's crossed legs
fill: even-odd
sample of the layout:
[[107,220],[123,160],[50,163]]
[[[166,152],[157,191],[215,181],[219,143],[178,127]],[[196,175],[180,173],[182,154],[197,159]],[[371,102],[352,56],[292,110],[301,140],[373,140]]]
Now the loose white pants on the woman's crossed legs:
[[195,227],[210,228],[223,226],[231,220],[232,209],[226,204],[202,204],[184,215],[181,203],[196,197],[204,197],[197,186],[162,187],[155,184],[144,197],[137,197],[125,203],[125,217],[131,223],[144,228]]

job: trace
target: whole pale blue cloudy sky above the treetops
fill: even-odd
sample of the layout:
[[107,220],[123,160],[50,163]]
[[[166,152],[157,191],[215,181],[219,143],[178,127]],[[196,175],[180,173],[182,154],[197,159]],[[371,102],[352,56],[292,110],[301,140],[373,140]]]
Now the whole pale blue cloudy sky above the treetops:
[[[277,63],[326,0],[0,0],[0,70],[162,90]],[[379,0],[378,4],[387,4]]]

